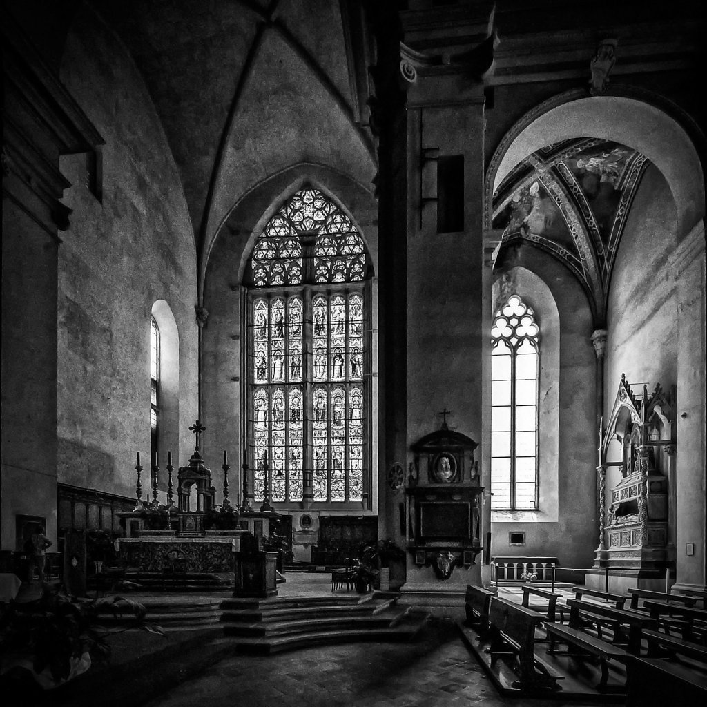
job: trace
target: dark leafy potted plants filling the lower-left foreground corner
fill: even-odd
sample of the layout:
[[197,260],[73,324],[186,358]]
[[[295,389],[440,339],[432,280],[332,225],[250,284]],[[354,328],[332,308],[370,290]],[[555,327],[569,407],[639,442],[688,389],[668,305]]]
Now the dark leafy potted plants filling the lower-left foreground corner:
[[107,660],[106,638],[117,631],[100,626],[100,614],[123,612],[132,621],[118,631],[139,627],[163,634],[144,624],[142,604],[123,597],[81,600],[45,588],[33,602],[9,602],[0,613],[0,693],[28,683],[54,689]]

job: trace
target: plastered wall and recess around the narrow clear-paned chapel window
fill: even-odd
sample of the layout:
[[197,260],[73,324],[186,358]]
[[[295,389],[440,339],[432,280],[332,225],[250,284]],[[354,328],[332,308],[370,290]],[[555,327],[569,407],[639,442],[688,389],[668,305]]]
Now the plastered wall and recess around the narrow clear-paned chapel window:
[[[556,304],[555,314],[542,303],[542,288],[527,292],[528,302],[535,305],[538,314],[549,309],[543,313],[556,322],[554,331],[547,325],[543,328],[541,322],[541,335],[548,354],[558,356],[559,366],[543,361],[541,343],[539,513],[493,512],[491,555],[550,556],[557,557],[564,567],[587,568],[592,566],[598,544],[592,315],[573,274],[553,257],[528,246],[511,247],[499,256],[494,269],[494,303],[504,293],[510,295],[517,289],[522,296],[522,290],[532,286],[532,278],[524,270],[542,279]],[[547,380],[544,366],[554,368],[555,380]],[[510,532],[525,532],[525,546],[511,547]]]

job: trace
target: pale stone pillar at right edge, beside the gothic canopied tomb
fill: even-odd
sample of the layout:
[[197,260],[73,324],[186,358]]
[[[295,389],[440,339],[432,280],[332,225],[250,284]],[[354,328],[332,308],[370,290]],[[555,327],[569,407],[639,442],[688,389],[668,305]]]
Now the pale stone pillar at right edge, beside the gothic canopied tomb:
[[[706,588],[705,233],[699,223],[672,258],[678,293],[676,584]],[[689,555],[688,544],[693,554]]]

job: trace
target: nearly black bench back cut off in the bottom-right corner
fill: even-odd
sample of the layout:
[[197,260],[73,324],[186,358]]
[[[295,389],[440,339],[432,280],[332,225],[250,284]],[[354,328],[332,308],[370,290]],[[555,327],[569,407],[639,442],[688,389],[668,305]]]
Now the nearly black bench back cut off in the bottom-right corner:
[[629,665],[626,707],[688,707],[707,703],[707,674],[658,658]]

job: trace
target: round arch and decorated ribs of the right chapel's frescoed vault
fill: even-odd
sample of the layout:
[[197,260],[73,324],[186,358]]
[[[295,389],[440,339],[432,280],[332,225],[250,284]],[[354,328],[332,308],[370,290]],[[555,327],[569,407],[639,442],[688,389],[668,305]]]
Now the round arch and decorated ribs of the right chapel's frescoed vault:
[[[514,173],[518,173],[515,174],[515,189],[527,187],[534,181],[542,184],[559,207],[579,258],[541,235],[529,233],[527,240],[548,250],[578,276],[590,295],[592,309],[599,323],[604,317],[605,293],[626,221],[626,212],[649,159],[665,176],[676,202],[679,219],[677,237],[688,233],[704,217],[701,160],[696,145],[677,119],[670,115],[671,112],[679,111],[664,99],[631,87],[614,86],[612,95],[593,98],[588,98],[584,90],[571,90],[539,104],[516,122],[503,137],[489,162],[484,185],[486,230],[491,230],[493,218],[516,193],[507,188]],[[701,146],[703,138],[691,119],[686,115],[679,115],[678,119],[688,124],[687,127],[696,134]],[[636,125],[641,126],[640,133]],[[578,151],[583,146],[592,146],[602,140],[615,141],[637,151],[628,180],[630,188],[624,192],[611,233],[607,233],[605,248],[598,237],[588,204],[585,204],[578,185],[573,183],[571,171],[558,159],[565,156],[564,152]],[[555,155],[546,164],[536,159],[539,151],[548,145],[566,141],[574,141],[574,145]],[[525,172],[519,173],[523,165]],[[503,192],[496,194],[498,198],[494,208],[493,197],[499,188]],[[521,238],[520,235],[517,238]],[[505,236],[504,240],[513,238]]]

